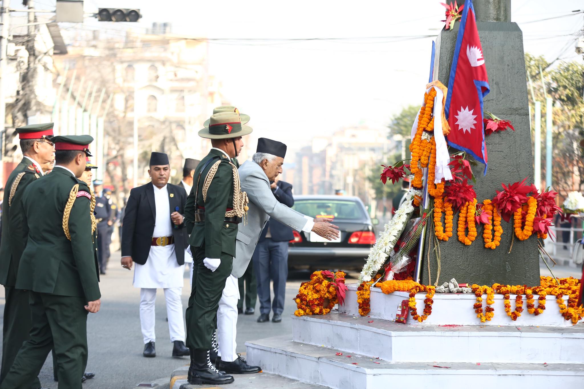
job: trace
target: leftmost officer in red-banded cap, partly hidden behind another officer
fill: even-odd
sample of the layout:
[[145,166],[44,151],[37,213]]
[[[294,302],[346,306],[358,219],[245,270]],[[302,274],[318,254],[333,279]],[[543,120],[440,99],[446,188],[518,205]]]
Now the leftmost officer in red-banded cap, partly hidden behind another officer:
[[[16,353],[29,339],[29,292],[15,289],[16,275],[26,236],[23,235],[22,195],[30,183],[43,176],[43,166],[54,159],[55,148],[51,142],[53,123],[33,124],[16,129],[20,138],[22,161],[6,182],[4,192],[2,243],[0,244],[0,283],[5,288],[4,327],[2,339],[2,372],[0,383],[8,374]],[[43,201],[44,202],[44,201]],[[30,378],[28,388],[40,388],[36,376]]]

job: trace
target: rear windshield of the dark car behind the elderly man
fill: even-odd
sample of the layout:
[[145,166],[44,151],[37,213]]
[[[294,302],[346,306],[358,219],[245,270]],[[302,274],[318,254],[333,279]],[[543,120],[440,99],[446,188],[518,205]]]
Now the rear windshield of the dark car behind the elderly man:
[[363,206],[347,200],[296,200],[293,208],[314,218],[364,219]]

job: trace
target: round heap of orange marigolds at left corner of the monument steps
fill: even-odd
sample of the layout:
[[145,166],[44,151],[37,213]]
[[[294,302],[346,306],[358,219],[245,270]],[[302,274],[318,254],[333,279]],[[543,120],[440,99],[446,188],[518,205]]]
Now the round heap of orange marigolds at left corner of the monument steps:
[[[335,273],[335,278],[345,278],[345,273],[338,271]],[[324,306],[325,300],[328,300],[326,306]],[[335,287],[322,275],[322,271],[315,271],[310,275],[310,281],[300,284],[294,302],[298,308],[294,311],[296,316],[326,315],[339,302],[339,299]]]

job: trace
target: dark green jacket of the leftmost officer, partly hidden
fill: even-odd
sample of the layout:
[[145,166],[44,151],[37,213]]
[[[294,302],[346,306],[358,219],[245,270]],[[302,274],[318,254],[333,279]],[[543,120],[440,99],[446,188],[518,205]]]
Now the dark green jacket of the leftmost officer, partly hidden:
[[[16,186],[15,194],[10,200],[12,184],[20,173],[25,173]],[[0,284],[16,285],[16,274],[22,252],[25,250],[26,234],[23,232],[22,195],[30,183],[41,176],[37,167],[25,157],[8,176],[2,202],[2,244],[0,245]]]

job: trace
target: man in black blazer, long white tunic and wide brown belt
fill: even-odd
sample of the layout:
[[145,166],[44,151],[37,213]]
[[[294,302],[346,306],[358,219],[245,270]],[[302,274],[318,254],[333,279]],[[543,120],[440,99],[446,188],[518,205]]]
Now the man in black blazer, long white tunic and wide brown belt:
[[166,298],[172,356],[189,355],[180,300],[187,240],[182,216],[186,192],[168,183],[170,173],[168,156],[152,152],[151,182],[130,191],[121,234],[121,266],[130,270],[136,263],[134,287],[141,288],[140,324],[146,357],[156,356],[154,302],[158,288],[164,289]]

